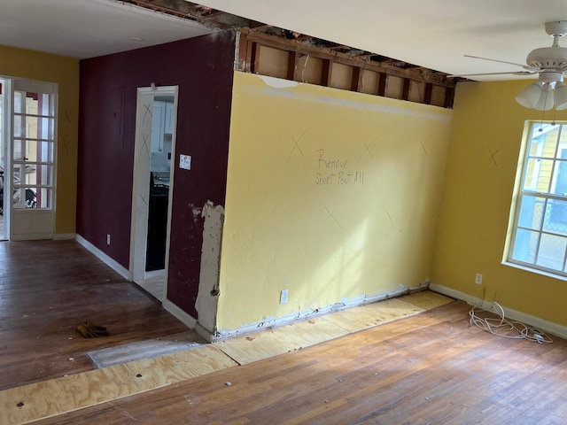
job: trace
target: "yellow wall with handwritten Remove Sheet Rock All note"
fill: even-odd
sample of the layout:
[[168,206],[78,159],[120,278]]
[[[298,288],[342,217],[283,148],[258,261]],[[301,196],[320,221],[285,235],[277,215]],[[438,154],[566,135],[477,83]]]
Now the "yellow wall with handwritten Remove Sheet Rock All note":
[[453,112],[265,81],[235,73],[217,327],[423,282]]

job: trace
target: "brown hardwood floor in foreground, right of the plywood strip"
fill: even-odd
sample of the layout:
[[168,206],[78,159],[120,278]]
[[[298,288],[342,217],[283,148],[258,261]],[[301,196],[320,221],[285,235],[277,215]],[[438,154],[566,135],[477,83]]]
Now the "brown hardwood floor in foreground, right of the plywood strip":
[[37,424],[564,424],[567,343],[503,339],[440,306]]

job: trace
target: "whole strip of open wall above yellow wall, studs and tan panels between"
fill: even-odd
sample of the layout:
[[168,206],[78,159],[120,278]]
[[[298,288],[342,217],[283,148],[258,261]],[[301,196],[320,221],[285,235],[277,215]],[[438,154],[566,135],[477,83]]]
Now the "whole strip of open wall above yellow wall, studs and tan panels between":
[[[439,74],[384,66],[256,30],[240,28],[237,33],[236,71],[417,104],[453,107],[456,81],[447,80]],[[314,61],[320,65],[315,65]],[[375,77],[371,87],[364,80],[367,73]],[[309,78],[306,78],[307,74]]]

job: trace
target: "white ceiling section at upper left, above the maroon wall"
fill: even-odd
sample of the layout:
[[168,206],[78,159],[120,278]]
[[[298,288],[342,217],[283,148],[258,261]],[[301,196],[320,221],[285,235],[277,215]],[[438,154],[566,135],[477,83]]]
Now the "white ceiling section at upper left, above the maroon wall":
[[0,44],[71,58],[210,32],[198,23],[114,0],[0,0]]

